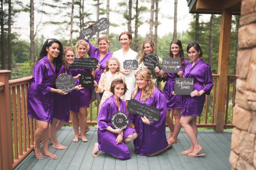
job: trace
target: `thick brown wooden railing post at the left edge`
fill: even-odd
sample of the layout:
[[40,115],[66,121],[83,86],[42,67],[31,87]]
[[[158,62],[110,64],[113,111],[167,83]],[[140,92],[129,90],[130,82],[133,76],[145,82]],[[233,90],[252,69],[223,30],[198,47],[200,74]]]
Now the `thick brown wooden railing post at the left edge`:
[[0,70],[0,82],[5,84],[0,91],[0,169],[4,170],[11,170],[13,161],[9,73]]

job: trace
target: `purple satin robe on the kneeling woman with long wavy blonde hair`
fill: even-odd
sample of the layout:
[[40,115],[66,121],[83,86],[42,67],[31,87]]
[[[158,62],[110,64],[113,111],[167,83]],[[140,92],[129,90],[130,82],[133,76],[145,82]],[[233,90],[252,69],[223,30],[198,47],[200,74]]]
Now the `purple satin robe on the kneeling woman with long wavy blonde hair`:
[[151,96],[146,102],[140,100],[140,94],[141,90],[134,99],[140,103],[145,103],[147,106],[154,106],[161,112],[158,121],[149,121],[151,125],[144,124],[139,115],[129,113],[129,121],[135,125],[139,135],[133,141],[134,153],[150,155],[168,146],[165,135],[166,102],[164,94],[158,88],[155,88],[153,97]]

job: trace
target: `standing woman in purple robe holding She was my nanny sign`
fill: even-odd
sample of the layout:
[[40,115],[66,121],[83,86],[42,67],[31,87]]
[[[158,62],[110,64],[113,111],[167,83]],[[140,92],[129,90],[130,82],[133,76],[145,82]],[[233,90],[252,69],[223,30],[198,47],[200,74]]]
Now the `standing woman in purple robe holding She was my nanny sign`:
[[[180,133],[181,124],[181,109],[182,109],[182,99],[181,95],[175,96],[172,95],[171,92],[174,91],[174,83],[175,78],[183,77],[184,70],[188,64],[190,64],[186,59],[184,59],[184,51],[182,48],[182,43],[180,40],[175,39],[172,40],[170,44],[170,57],[172,58],[180,58],[181,65],[180,71],[178,73],[165,73],[163,70],[160,71],[161,75],[164,77],[164,81],[166,81],[163,94],[166,99],[167,104],[167,114],[166,114],[166,123],[170,128],[170,135],[167,137],[167,140],[170,140],[171,143],[177,143],[177,136]],[[175,118],[175,126],[172,118],[170,117],[170,112],[172,110],[172,115]]]

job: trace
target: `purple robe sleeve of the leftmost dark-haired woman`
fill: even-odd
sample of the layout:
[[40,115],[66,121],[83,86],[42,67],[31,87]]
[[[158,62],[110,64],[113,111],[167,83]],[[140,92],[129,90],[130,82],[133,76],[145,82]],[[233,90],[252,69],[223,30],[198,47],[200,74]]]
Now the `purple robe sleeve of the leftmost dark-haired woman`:
[[[48,68],[48,69],[50,69],[50,68]],[[41,91],[43,93],[43,95],[48,93],[51,89],[51,87],[49,87],[43,83],[45,76],[47,76],[46,75],[46,67],[44,66],[43,63],[37,63],[34,66],[33,77],[34,77],[34,81],[35,81],[37,89],[39,91]]]

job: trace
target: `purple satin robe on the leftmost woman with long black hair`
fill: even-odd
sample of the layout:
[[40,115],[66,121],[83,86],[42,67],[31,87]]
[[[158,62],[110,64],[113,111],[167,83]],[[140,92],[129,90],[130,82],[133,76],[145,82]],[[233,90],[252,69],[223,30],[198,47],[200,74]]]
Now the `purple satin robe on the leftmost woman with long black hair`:
[[57,76],[55,65],[52,68],[47,56],[39,60],[33,69],[33,77],[28,88],[27,116],[36,120],[52,122],[53,120],[53,92]]

